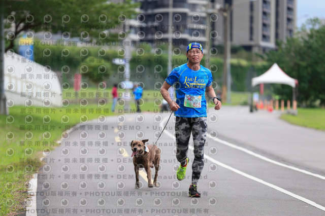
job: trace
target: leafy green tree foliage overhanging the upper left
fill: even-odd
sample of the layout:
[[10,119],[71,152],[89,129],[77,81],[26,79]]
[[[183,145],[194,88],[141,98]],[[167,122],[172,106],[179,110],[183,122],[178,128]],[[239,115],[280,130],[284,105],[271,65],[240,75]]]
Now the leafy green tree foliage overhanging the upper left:
[[78,37],[99,45],[117,41],[116,28],[123,30],[118,24],[135,15],[137,7],[129,0],[123,4],[107,0],[5,0],[6,51],[24,31],[30,36],[38,31],[60,32],[63,39]]

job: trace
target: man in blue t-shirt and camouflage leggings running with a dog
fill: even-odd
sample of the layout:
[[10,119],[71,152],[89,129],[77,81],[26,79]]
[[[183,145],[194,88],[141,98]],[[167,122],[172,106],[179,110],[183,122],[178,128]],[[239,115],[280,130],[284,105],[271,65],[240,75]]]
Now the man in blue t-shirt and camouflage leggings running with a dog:
[[[188,164],[188,142],[193,136],[194,160],[192,178],[188,194],[201,197],[197,191],[198,181],[204,166],[204,145],[207,136],[207,101],[205,94],[212,98],[214,110],[220,110],[221,101],[212,87],[212,74],[200,64],[203,57],[202,45],[190,43],[186,49],[187,63],[175,67],[165,79],[160,93],[175,111],[176,158],[180,162],[176,176],[179,181],[185,178]],[[175,85],[176,100],[172,100],[168,89]]]

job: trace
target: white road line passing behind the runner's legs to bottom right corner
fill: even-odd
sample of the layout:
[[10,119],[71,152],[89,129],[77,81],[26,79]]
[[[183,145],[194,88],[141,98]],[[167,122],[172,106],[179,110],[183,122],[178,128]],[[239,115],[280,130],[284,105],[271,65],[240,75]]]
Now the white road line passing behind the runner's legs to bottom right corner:
[[[160,127],[161,127],[161,126],[162,126],[162,127],[164,126],[163,122],[165,122],[166,119],[167,119],[167,118],[165,118],[163,121],[160,122]],[[165,132],[168,136],[170,136],[171,138],[173,138],[173,135],[172,135],[169,131],[166,131],[166,130],[165,130],[164,132]],[[188,148],[189,148],[190,150],[193,150],[193,147],[191,147],[191,146],[188,146]],[[275,190],[277,190],[277,191],[280,191],[280,192],[282,192],[282,193],[284,193],[284,194],[287,194],[287,195],[289,195],[289,196],[291,196],[291,197],[294,197],[294,198],[299,199],[299,200],[301,200],[301,201],[303,201],[303,202],[305,202],[305,203],[308,203],[308,204],[310,204],[310,205],[312,205],[312,206],[314,206],[314,207],[316,207],[316,208],[318,208],[318,209],[320,209],[320,210],[325,211],[325,207],[324,207],[324,206],[319,205],[319,204],[315,203],[314,201],[311,201],[311,200],[309,200],[309,199],[306,199],[306,198],[304,198],[304,197],[302,197],[302,196],[299,196],[299,195],[297,195],[297,194],[291,193],[291,192],[289,192],[289,191],[287,191],[287,190],[285,190],[285,189],[283,189],[283,188],[280,188],[280,187],[278,187],[278,186],[276,186],[276,185],[273,185],[273,184],[271,184],[271,183],[265,182],[264,180],[262,180],[262,179],[260,179],[260,178],[254,177],[254,176],[249,175],[249,174],[247,174],[247,173],[245,173],[245,172],[242,172],[242,171],[240,171],[240,170],[238,170],[238,169],[235,169],[235,168],[233,168],[233,167],[231,167],[231,166],[228,166],[228,165],[226,165],[226,164],[224,164],[224,163],[221,163],[221,162],[219,162],[219,161],[217,161],[217,160],[211,158],[210,156],[204,155],[204,157],[205,157],[206,159],[208,159],[209,161],[211,161],[212,163],[215,163],[215,164],[217,164],[217,165],[219,165],[219,166],[221,166],[221,167],[223,167],[223,168],[229,169],[229,170],[231,170],[231,171],[233,171],[233,172],[236,172],[237,174],[240,174],[240,175],[242,175],[242,176],[244,176],[244,177],[247,177],[247,178],[249,178],[249,179],[252,179],[252,180],[255,181],[255,182],[258,182],[258,183],[261,183],[261,184],[266,185],[266,186],[268,186],[268,187],[271,187],[271,188],[273,188],[273,189],[275,189]]]

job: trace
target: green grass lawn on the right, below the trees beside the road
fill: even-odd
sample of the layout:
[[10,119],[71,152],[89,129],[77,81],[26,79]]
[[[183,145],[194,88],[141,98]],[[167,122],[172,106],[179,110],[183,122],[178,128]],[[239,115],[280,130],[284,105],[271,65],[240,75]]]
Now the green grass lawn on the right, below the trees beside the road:
[[298,115],[283,114],[281,119],[295,125],[325,131],[325,109],[298,109]]

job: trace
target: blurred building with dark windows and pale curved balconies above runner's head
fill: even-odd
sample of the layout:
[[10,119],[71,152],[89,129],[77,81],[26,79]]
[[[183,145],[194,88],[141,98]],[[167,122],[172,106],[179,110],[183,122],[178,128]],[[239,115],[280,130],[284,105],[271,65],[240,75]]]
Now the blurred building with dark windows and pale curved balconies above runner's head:
[[[157,43],[168,41],[169,15],[172,13],[172,37],[176,46],[187,46],[195,41],[207,41],[207,0],[140,0],[138,21],[145,23],[140,31],[145,37],[140,41]],[[139,20],[140,19],[140,20]]]

